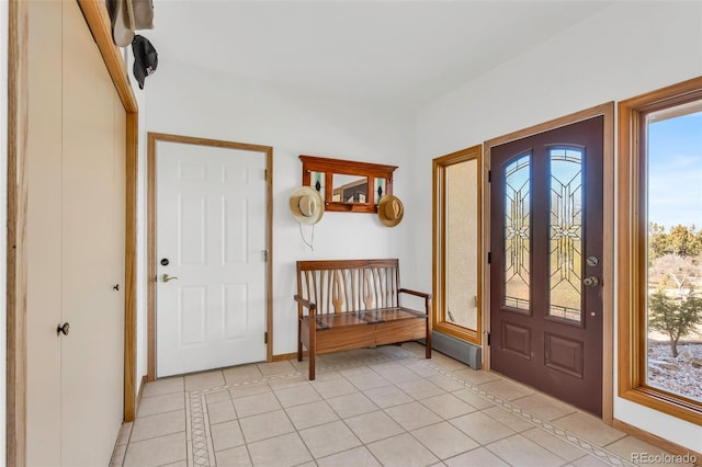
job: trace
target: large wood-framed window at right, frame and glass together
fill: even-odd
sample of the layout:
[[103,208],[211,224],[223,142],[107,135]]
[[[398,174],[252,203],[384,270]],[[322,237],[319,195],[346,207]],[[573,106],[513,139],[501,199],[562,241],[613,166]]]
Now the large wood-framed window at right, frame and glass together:
[[700,424],[702,78],[619,112],[619,394]]

